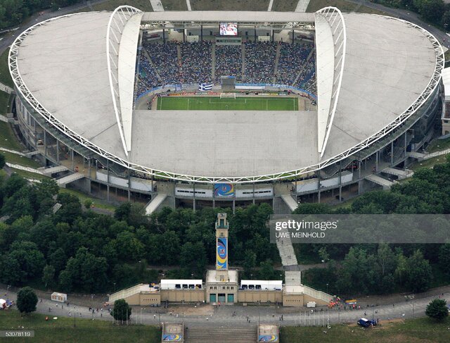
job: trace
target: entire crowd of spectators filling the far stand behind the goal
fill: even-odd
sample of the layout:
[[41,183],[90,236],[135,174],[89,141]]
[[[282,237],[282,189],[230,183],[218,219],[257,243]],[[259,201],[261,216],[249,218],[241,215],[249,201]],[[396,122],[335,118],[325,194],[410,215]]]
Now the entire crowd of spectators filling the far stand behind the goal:
[[[278,70],[274,75],[278,44],[281,45],[280,56]],[[316,94],[316,59],[314,54],[309,57],[312,49],[314,45],[311,43],[246,42],[244,81],[248,83],[275,81]],[[236,82],[242,82],[242,57],[240,45],[217,45],[214,82],[219,84],[221,76],[235,76]],[[140,81],[136,84],[136,96],[160,85],[213,82],[212,42],[144,44],[142,51],[139,51],[138,72]]]

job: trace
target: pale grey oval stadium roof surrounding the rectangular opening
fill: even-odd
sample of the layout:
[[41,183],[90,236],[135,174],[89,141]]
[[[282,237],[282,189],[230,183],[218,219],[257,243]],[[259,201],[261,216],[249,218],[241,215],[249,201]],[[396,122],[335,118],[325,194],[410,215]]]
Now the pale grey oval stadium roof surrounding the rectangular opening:
[[[16,87],[44,118],[123,166],[181,180],[276,179],[321,168],[374,142],[393,122],[406,118],[405,111],[423,102],[427,88],[440,80],[442,49],[422,28],[360,13],[333,20],[332,12],[315,14],[319,119],[314,111],[127,112],[132,92],[127,77],[135,61],[125,63],[131,67],[125,68],[128,76],[122,82],[115,82],[114,73],[111,78],[106,49],[110,12],[66,15],[31,27],[11,48],[10,70]],[[143,13],[143,20],[301,21],[311,15],[152,12]],[[327,21],[333,30],[324,27]],[[130,38],[136,34],[132,27],[122,32],[127,35],[116,37],[117,42],[137,42]],[[129,44],[120,47],[119,61],[125,56],[122,50],[133,58],[130,49]],[[121,101],[117,94],[126,94],[127,100],[115,104],[114,97]]]

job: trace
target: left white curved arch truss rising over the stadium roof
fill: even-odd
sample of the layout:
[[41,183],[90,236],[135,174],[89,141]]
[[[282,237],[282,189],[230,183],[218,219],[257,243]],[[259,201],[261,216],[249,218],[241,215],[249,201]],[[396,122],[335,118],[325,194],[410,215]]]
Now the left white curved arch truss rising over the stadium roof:
[[[138,16],[136,17],[136,15]],[[128,151],[131,150],[132,92],[134,89],[134,66],[130,68],[130,65],[126,61],[127,58],[132,58],[133,55],[134,59],[132,61],[136,61],[137,46],[134,46],[134,53],[131,50],[133,43],[137,44],[142,15],[143,13],[138,8],[119,6],[111,13],[107,28],[108,31],[106,33],[106,58],[111,96],[113,97],[115,118],[119,127],[120,139],[122,139],[122,146],[126,156],[128,156]],[[131,20],[132,18],[135,19]],[[129,25],[129,23],[131,24]],[[138,25],[137,32],[134,30],[136,25]],[[111,66],[112,64],[113,68]],[[131,86],[129,81],[130,70],[133,74],[133,77],[131,77]],[[129,95],[130,90],[131,96]],[[123,99],[122,95],[124,96]],[[130,99],[131,104],[129,104]]]

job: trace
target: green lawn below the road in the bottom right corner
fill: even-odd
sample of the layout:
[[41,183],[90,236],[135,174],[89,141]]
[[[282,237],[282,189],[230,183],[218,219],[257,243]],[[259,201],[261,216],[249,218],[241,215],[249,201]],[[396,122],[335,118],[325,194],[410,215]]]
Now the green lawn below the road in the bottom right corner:
[[325,330],[320,327],[282,327],[280,342],[450,342],[449,326],[450,318],[446,318],[443,323],[436,323],[429,318],[418,318],[384,325],[382,320],[381,325],[373,329],[358,328],[354,325],[333,325]]

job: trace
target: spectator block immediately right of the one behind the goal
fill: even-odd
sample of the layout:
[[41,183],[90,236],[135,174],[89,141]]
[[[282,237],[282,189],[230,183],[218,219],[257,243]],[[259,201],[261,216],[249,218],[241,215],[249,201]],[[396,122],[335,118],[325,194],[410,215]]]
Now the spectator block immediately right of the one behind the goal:
[[276,42],[245,43],[245,82],[272,83],[277,44]]

